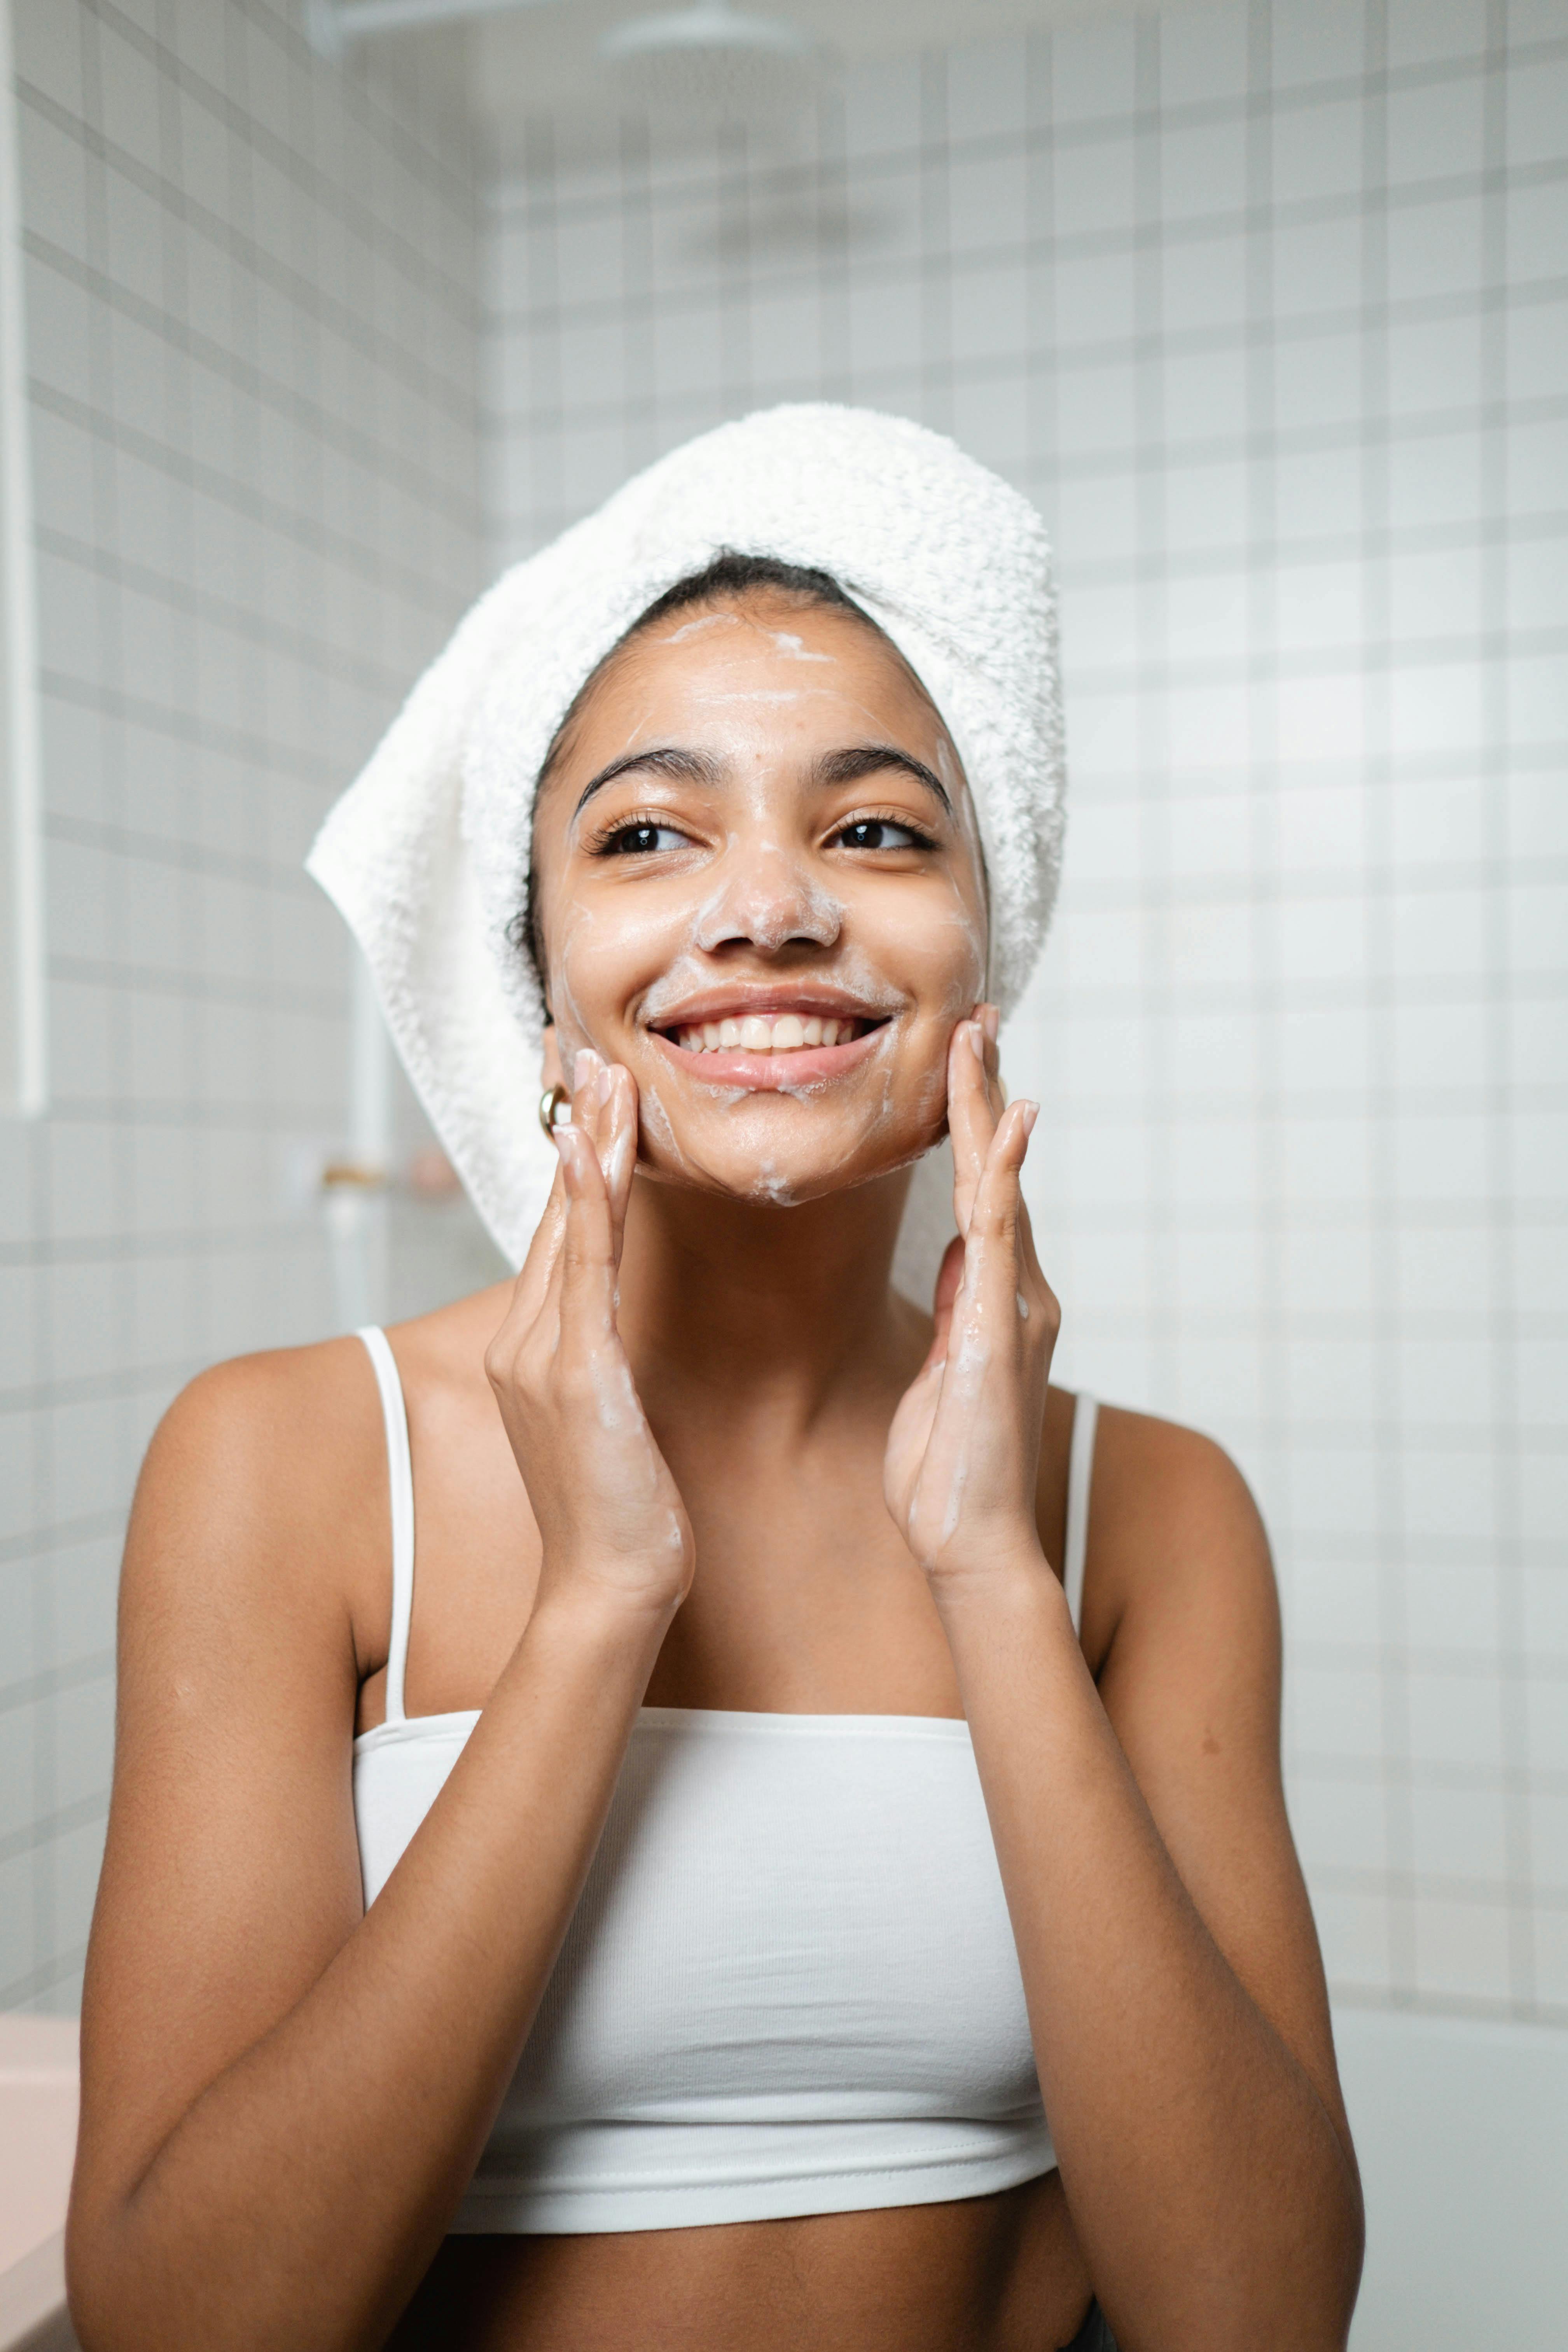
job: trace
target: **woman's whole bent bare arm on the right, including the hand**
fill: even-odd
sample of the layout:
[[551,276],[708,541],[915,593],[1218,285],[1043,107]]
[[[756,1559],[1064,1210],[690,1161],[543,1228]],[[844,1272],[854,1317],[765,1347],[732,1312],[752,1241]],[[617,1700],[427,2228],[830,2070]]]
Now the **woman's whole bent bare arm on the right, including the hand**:
[[952,1646],[1067,2204],[1124,2352],[1338,2352],[1361,2190],[1279,1780],[1262,1526],[1215,1446],[1107,1416],[1095,1689],[1034,1519],[1056,1338],[1018,1188],[1034,1105],[999,1115],[969,1030],[961,1244],[886,1486]]

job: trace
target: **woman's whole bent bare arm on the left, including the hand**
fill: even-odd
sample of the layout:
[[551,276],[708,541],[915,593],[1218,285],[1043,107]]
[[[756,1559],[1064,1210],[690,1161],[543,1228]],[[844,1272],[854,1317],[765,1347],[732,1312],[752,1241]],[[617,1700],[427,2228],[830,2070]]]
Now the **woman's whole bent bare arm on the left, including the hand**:
[[[628,1091],[618,1073],[599,1112],[625,1183]],[[564,1145],[569,1204],[489,1359],[545,1536],[538,1599],[369,1912],[331,1536],[371,1392],[336,1350],[261,1357],[197,1381],[153,1442],[82,2016],[87,2352],[378,2345],[468,2185],[691,1573],[630,1376],[604,1428],[625,1183],[607,1190],[592,1131]]]

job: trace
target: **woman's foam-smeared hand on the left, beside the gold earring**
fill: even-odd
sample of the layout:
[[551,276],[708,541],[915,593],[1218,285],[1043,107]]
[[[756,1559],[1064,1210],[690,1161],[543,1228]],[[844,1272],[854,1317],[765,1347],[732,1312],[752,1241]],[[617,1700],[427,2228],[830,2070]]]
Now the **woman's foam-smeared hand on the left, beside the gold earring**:
[[599,1592],[672,1613],[696,1564],[691,1519],[616,1329],[637,1084],[592,1051],[571,1075],[550,1204],[484,1371],[543,1538],[541,1599]]

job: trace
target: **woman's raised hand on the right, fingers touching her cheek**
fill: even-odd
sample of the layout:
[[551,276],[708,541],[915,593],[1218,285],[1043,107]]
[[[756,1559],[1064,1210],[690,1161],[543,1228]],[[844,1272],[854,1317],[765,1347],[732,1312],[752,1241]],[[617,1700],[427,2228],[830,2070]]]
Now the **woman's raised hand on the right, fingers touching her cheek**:
[[1001,1108],[997,1014],[947,1047],[959,1232],[936,1282],[931,1352],[889,1430],[882,1491],[933,1585],[1039,1552],[1034,1482],[1060,1308],[1034,1256],[1020,1169],[1039,1103]]

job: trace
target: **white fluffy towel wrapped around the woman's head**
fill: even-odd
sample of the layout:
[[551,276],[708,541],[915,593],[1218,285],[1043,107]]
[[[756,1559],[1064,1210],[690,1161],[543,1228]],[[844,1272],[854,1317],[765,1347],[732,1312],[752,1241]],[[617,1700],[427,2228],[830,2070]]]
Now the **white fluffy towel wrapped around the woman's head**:
[[[308,858],[515,1265],[555,1174],[538,1127],[543,1007],[508,941],[538,769],[588,673],[722,548],[830,572],[922,677],[980,818],[1004,1014],[1046,931],[1063,710],[1051,550],[1027,499],[938,433],[872,409],[766,409],[675,449],[480,597]],[[919,1174],[898,1279],[929,1298],[950,1178],[933,1162]]]

